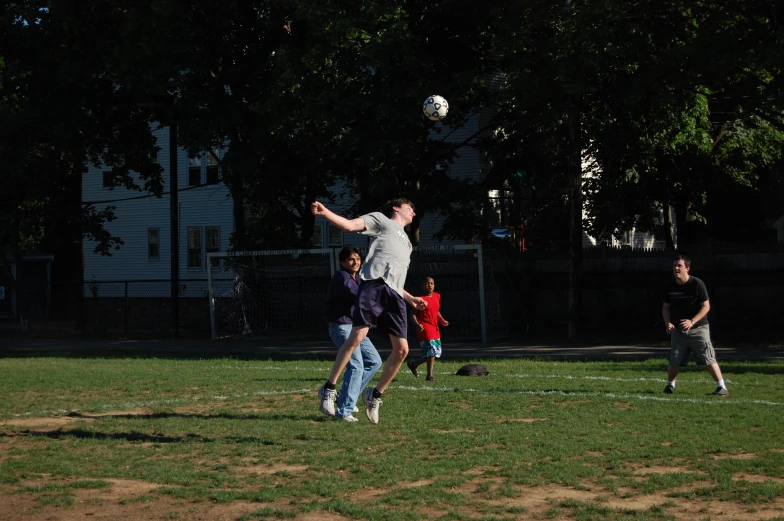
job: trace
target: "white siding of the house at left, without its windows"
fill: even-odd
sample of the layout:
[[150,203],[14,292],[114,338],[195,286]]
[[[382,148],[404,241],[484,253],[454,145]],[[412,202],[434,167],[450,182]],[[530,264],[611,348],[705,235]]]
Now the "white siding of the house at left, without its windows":
[[[163,167],[164,192],[168,192],[169,180],[169,130],[163,128],[153,132],[157,138],[158,162]],[[133,192],[123,187],[114,189],[103,188],[103,172],[108,168],[95,168],[89,166],[84,174],[82,183],[82,201],[106,201],[128,199],[146,195],[144,192]],[[180,149],[177,155],[177,171],[179,186],[179,253],[180,253],[180,278],[205,279],[207,278],[207,260],[205,257],[206,236],[204,228],[207,226],[220,227],[221,250],[229,249],[229,236],[233,231],[233,204],[229,199],[228,189],[222,183],[204,186],[191,190],[184,190],[188,186],[188,156],[185,150]],[[202,167],[202,179],[205,180],[205,169]],[[137,183],[143,184],[137,177]],[[111,256],[101,256],[93,253],[95,243],[85,240],[84,251],[84,278],[90,280],[140,280],[140,279],[169,279],[171,277],[170,248],[170,208],[169,194],[163,197],[148,197],[144,199],[131,199],[95,204],[96,209],[102,210],[107,206],[115,206],[117,219],[106,223],[106,229],[125,241],[118,251],[112,251]],[[202,228],[202,267],[189,269],[188,261],[188,227]],[[160,230],[160,252],[158,259],[149,259],[147,230],[158,228]],[[213,272],[218,274],[217,271]]]

